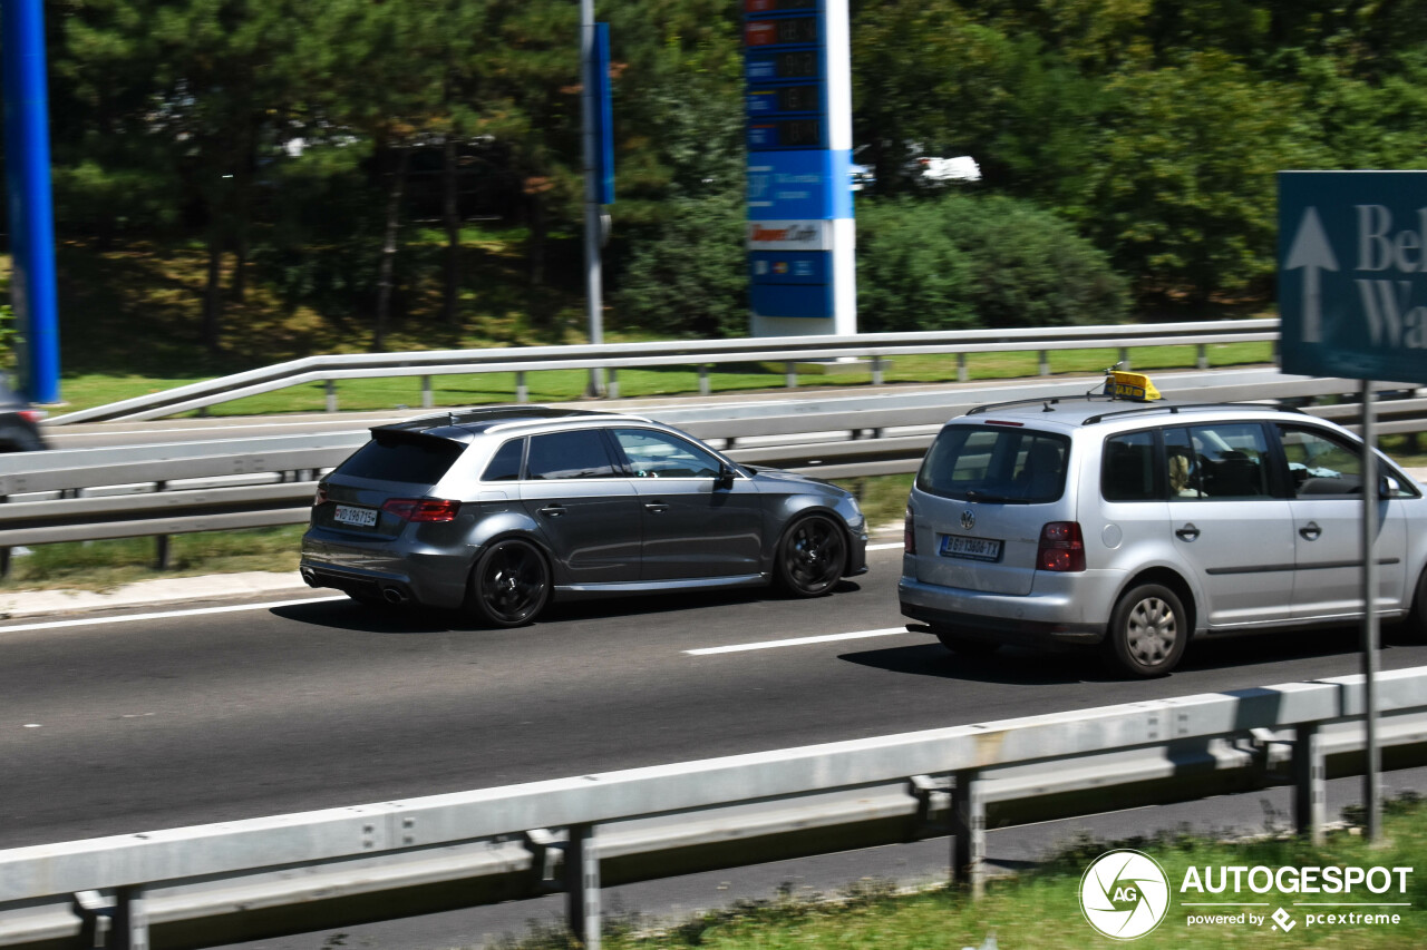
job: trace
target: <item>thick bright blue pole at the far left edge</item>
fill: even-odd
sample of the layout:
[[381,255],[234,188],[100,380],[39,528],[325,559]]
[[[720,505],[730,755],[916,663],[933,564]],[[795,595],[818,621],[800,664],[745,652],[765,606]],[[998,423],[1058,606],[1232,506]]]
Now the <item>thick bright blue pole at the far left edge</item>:
[[31,402],[60,401],[60,324],[50,204],[49,88],[41,0],[0,0],[4,141],[10,194],[10,300],[24,339],[21,382]]

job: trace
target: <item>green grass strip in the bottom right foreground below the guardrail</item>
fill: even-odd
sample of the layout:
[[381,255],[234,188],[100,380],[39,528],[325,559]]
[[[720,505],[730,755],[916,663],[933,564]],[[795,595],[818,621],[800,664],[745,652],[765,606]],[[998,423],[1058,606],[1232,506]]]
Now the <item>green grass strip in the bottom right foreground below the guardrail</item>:
[[[1017,877],[992,880],[987,896],[972,902],[948,889],[916,894],[896,894],[890,887],[862,882],[839,900],[795,902],[779,899],[745,903],[728,911],[709,913],[694,920],[648,931],[645,921],[616,921],[605,937],[606,950],[959,950],[980,947],[995,934],[1002,950],[1085,950],[1109,947],[1116,941],[1102,937],[1085,921],[1077,890],[1086,866],[1112,847],[1134,847],[1154,857],[1170,880],[1174,893],[1167,917],[1160,926],[1132,946],[1143,950],[1217,950],[1219,947],[1334,947],[1350,950],[1417,950],[1423,946],[1427,921],[1427,807],[1416,797],[1390,802],[1386,809],[1384,843],[1368,846],[1357,834],[1337,832],[1323,846],[1301,839],[1274,837],[1241,843],[1223,843],[1209,837],[1164,834],[1153,840],[1092,842],[1079,840],[1063,849],[1036,870]],[[1377,900],[1411,902],[1411,907],[1373,907],[1361,910],[1397,911],[1401,923],[1370,929],[1309,927],[1301,921],[1303,909],[1291,906],[1291,894],[1249,896],[1250,900],[1274,902],[1256,907],[1273,913],[1279,906],[1299,919],[1289,933],[1271,923],[1249,926],[1186,924],[1186,916],[1200,913],[1182,907],[1179,883],[1190,866],[1386,866],[1413,867],[1408,893]],[[1361,889],[1359,889],[1361,890]],[[1364,892],[1366,893],[1366,892]],[[1371,896],[1351,894],[1356,900]],[[1329,897],[1324,897],[1329,900]],[[1351,909],[1314,909],[1343,911]],[[1237,911],[1234,911],[1237,913]],[[568,936],[547,930],[507,944],[507,950],[549,950],[575,946]]]

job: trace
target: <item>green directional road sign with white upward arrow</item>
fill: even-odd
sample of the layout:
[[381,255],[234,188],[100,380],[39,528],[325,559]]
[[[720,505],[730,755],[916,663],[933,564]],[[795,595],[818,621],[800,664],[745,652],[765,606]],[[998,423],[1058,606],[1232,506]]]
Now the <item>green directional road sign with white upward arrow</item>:
[[1283,369],[1427,384],[1427,171],[1279,173]]

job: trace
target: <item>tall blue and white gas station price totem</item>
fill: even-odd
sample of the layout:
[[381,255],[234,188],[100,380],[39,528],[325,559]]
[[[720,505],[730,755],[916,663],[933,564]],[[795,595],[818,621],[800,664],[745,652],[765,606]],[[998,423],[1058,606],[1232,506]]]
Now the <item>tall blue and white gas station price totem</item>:
[[846,0],[743,0],[756,337],[855,334]]

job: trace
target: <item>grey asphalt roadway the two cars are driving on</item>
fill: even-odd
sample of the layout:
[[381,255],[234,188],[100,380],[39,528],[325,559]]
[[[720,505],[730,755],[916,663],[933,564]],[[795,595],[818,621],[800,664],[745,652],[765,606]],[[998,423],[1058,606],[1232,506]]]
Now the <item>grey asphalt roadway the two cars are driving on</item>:
[[[521,630],[345,599],[0,625],[0,847],[1357,672],[1353,629],[963,659],[900,630],[899,548],[833,596],[557,606]],[[843,639],[816,639],[849,635]],[[798,638],[812,642],[759,646]],[[1391,639],[1391,638],[1390,638]],[[692,653],[728,648],[725,652]],[[1391,643],[1383,668],[1427,663]]]

